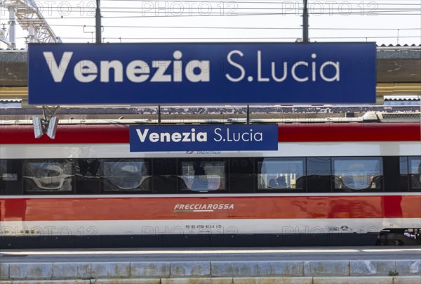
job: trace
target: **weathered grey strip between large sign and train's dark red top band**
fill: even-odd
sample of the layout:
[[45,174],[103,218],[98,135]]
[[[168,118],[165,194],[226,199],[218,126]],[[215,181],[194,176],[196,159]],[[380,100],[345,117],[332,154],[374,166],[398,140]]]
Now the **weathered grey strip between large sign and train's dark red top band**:
[[[250,106],[250,118],[257,119],[312,119],[325,117],[359,117],[366,112],[420,112],[420,105],[273,105]],[[42,116],[41,108],[2,108],[3,117],[9,120],[28,120],[32,115]],[[60,108],[60,120],[156,120],[157,108]],[[246,118],[245,106],[232,107],[161,107],[162,120],[236,119]]]

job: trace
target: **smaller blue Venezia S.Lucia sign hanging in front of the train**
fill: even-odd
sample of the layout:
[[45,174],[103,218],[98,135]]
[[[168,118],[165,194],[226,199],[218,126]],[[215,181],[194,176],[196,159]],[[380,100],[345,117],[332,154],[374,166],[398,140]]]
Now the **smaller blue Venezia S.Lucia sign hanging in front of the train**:
[[131,126],[131,152],[278,150],[278,126]]

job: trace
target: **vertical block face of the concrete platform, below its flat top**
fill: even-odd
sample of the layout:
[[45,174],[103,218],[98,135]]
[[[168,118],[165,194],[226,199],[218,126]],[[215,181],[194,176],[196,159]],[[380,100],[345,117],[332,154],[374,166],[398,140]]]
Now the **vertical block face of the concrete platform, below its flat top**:
[[1,262],[0,271],[1,283],[421,283],[421,260]]

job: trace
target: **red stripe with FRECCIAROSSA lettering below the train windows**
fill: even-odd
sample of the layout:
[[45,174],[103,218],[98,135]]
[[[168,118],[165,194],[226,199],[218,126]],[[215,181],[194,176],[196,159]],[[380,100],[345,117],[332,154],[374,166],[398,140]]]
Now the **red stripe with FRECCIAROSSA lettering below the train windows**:
[[421,218],[420,195],[13,198],[1,221]]

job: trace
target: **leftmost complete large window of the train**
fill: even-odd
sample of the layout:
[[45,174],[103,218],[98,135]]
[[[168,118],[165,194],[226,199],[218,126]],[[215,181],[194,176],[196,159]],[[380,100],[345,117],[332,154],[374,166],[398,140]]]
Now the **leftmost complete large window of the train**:
[[74,163],[71,160],[25,160],[23,185],[26,193],[72,191]]

